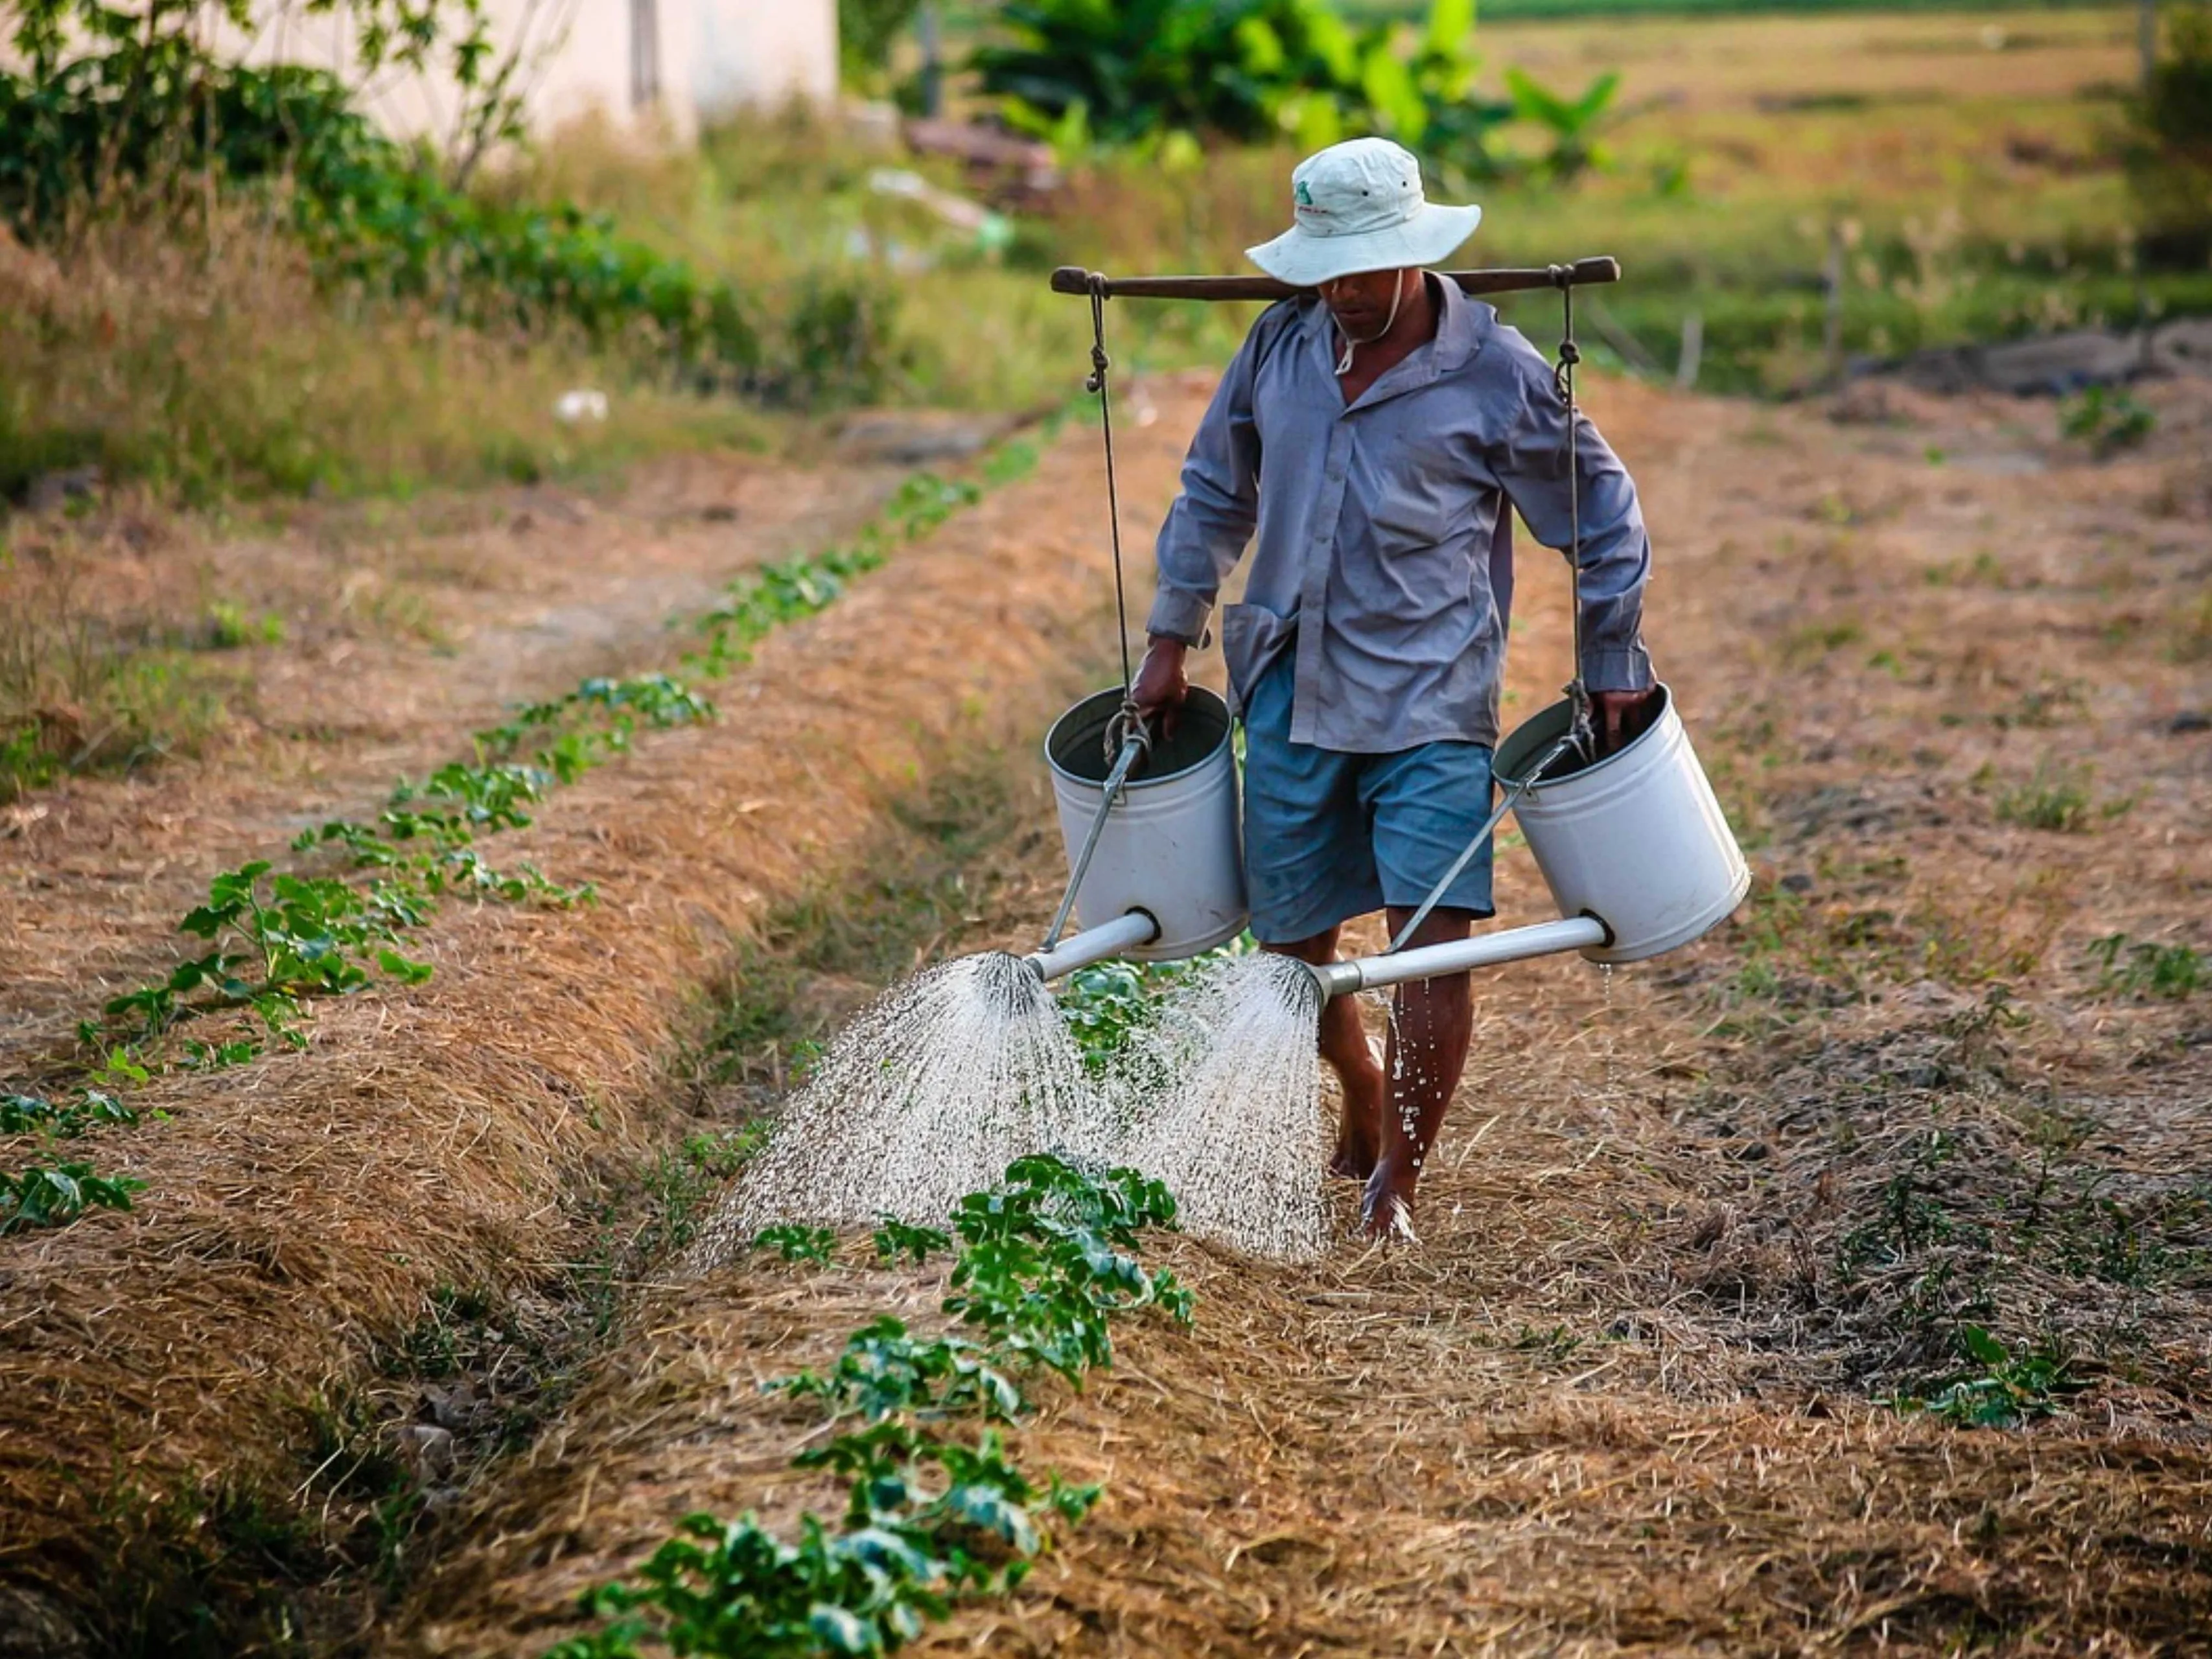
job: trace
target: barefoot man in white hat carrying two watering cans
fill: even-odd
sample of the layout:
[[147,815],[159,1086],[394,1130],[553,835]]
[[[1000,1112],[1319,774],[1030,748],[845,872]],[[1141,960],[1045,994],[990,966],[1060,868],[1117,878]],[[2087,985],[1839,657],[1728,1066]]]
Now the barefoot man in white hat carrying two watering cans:
[[[1298,164],[1292,201],[1292,228],[1248,252],[1314,292],[1252,325],[1190,442],[1135,699],[1172,719],[1183,657],[1208,641],[1221,582],[1256,531],[1243,604],[1221,613],[1245,723],[1252,931],[1321,964],[1354,916],[1387,909],[1396,936],[1489,816],[1513,509],[1546,546],[1573,538],[1551,365],[1422,270],[1482,210],[1429,204],[1420,164],[1371,137]],[[1588,420],[1579,458],[1582,681],[1610,752],[1659,710],[1641,639],[1650,540]],[[1411,945],[1467,938],[1491,914],[1482,847]],[[1329,1170],[1365,1181],[1367,1237],[1411,1239],[1413,1186],[1471,1029],[1464,973],[1402,987],[1385,1073],[1354,1002],[1323,1011],[1321,1053],[1345,1093]]]

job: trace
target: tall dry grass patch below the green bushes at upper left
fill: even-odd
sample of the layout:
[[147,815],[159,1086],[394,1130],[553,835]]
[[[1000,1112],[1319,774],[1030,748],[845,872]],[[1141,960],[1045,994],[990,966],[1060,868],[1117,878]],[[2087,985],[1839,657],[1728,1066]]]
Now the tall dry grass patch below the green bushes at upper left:
[[[555,398],[619,376],[615,418]],[[491,338],[316,290],[250,212],[210,234],[93,226],[64,252],[0,237],[0,495],[100,467],[184,500],[573,473],[759,431],[633,385],[562,338]]]

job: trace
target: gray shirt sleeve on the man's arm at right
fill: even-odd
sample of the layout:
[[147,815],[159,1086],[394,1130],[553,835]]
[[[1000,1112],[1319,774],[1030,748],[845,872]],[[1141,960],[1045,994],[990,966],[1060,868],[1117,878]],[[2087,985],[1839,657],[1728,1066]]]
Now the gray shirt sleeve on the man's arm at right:
[[[1566,403],[1551,365],[1522,334],[1500,327],[1491,349],[1513,354],[1522,394],[1491,467],[1535,538],[1571,553],[1575,518],[1566,487]],[[1619,456],[1579,411],[1575,451],[1582,482],[1582,684],[1590,690],[1644,690],[1652,684],[1644,648],[1644,584],[1652,568],[1644,507]]]

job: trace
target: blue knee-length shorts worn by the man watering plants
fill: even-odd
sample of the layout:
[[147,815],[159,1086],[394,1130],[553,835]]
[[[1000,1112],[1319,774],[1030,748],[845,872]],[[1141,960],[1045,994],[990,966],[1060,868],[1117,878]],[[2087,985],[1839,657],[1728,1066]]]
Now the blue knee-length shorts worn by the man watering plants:
[[[1285,653],[1243,699],[1245,889],[1261,945],[1314,938],[1385,905],[1413,909],[1491,816],[1489,743],[1394,754],[1292,743],[1290,695]],[[1442,902],[1491,916],[1489,843]]]

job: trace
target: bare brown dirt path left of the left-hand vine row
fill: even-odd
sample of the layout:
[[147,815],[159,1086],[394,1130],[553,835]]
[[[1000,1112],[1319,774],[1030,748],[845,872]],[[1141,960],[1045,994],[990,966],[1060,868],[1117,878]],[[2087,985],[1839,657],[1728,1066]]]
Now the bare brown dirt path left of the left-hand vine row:
[[230,719],[204,763],[66,779],[0,818],[0,1077],[159,971],[217,869],[369,816],[396,776],[465,759],[469,732],[518,701],[670,666],[688,644],[670,622],[748,566],[849,535],[898,478],[686,456],[617,495],[307,511],[268,538],[95,524],[86,584],[221,595],[281,617],[285,637],[234,653]]

